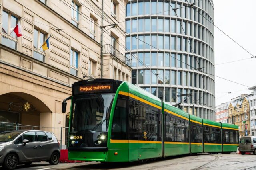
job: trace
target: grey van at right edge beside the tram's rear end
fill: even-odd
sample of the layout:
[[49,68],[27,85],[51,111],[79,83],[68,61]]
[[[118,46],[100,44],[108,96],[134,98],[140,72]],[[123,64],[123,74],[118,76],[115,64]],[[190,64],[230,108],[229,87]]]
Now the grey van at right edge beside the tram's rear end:
[[253,154],[256,154],[256,136],[241,137],[239,141],[239,151],[241,154],[245,154],[245,152],[253,152]]

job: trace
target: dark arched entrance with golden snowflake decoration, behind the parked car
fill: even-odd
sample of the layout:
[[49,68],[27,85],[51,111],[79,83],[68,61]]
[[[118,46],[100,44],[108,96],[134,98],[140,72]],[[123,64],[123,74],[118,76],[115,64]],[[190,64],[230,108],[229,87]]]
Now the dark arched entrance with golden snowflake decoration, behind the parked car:
[[44,113],[52,111],[38,98],[27,93],[11,92],[0,95],[0,122],[42,126]]

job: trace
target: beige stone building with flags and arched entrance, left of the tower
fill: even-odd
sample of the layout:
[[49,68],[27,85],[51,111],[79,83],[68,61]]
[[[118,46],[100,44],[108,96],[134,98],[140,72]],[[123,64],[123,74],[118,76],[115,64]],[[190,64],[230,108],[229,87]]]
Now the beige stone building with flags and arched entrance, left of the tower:
[[[125,43],[125,3],[1,0],[0,121],[67,127],[69,109],[61,113],[61,104],[74,82],[101,77],[130,81],[131,61],[119,45]],[[18,23],[20,37],[12,31]],[[44,51],[48,37],[50,47]]]

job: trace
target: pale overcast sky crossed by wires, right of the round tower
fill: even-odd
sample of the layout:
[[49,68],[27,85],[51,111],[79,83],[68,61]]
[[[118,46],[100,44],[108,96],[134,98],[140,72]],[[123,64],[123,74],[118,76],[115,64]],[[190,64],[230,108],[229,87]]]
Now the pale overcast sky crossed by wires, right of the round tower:
[[[256,56],[256,0],[213,0],[213,3],[214,24]],[[215,75],[249,87],[255,86],[256,58],[220,64],[252,56],[216,27],[214,43]],[[252,91],[246,86],[215,77],[216,106],[240,94],[250,94]]]

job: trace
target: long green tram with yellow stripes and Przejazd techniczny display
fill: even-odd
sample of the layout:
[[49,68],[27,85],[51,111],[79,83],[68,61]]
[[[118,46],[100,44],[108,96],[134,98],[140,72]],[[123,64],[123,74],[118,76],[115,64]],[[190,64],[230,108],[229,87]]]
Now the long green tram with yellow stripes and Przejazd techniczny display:
[[128,82],[75,82],[63,113],[70,99],[69,160],[130,162],[238,146],[238,126],[190,115]]

